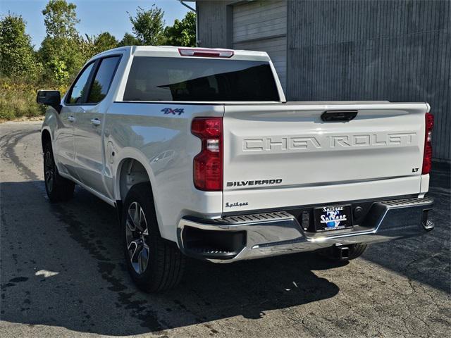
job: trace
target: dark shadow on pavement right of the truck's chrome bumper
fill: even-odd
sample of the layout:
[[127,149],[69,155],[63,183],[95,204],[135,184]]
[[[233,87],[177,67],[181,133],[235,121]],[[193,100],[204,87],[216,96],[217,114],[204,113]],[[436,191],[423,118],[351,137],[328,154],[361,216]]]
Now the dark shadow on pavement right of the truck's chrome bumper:
[[451,293],[450,164],[433,163],[427,196],[435,200],[429,234],[371,246],[364,258],[409,279]]

